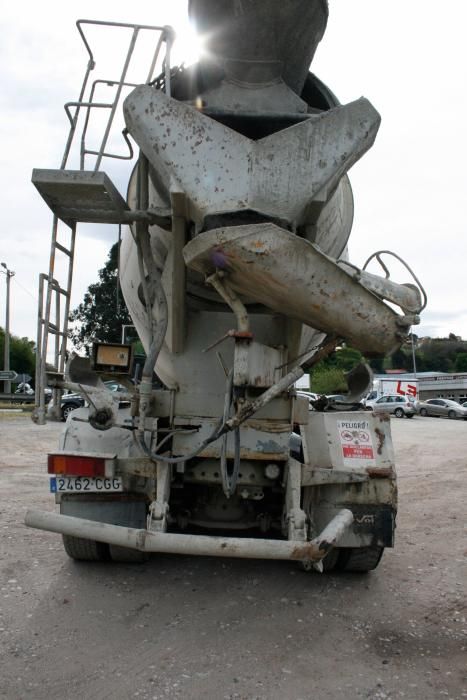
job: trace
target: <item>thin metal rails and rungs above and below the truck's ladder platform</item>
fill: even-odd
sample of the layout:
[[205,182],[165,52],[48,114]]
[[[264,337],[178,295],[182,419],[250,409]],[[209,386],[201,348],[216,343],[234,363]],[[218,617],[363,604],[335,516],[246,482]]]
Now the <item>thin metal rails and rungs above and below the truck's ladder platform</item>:
[[[160,82],[162,89],[166,94],[170,95],[170,80],[171,80],[171,49],[175,38],[175,33],[172,27],[169,26],[151,26],[143,24],[129,24],[125,22],[106,22],[99,20],[80,19],[76,22],[78,32],[85,46],[88,60],[84,73],[83,82],[78,95],[78,99],[67,102],[65,104],[65,112],[70,122],[65,149],[60,165],[60,170],[66,170],[69,164],[70,156],[79,157],[80,170],[86,169],[86,158],[88,156],[95,157],[95,162],[92,171],[100,170],[104,158],[113,158],[118,160],[131,161],[134,157],[133,147],[128,137],[126,129],[121,132],[123,141],[126,144],[125,153],[115,153],[109,150],[108,144],[111,136],[114,134],[115,117],[121,100],[124,97],[125,90],[136,87],[141,83]],[[106,79],[102,76],[96,78],[90,85],[91,73],[96,69],[97,63],[94,56],[94,51],[91,48],[91,41],[88,36],[90,27],[102,27],[118,30],[128,30],[129,40],[124,53],[122,68],[117,79]],[[154,48],[148,52],[146,68],[143,68],[143,80],[139,83],[132,82],[128,79],[132,61],[135,57],[135,49],[138,39],[147,33],[157,34],[154,41]],[[113,90],[113,96],[107,101],[100,101],[96,98],[99,88],[106,86]],[[102,133],[100,136],[94,137],[99,142],[99,146],[92,148],[87,145],[87,139],[90,133],[91,115],[95,110],[108,110],[108,117],[104,120]],[[82,128],[78,126],[82,123]],[[79,146],[75,148],[77,143],[77,135],[79,136]],[[63,376],[66,355],[67,355],[67,339],[68,339],[68,317],[70,313],[71,300],[71,284],[73,278],[74,266],[74,251],[75,251],[75,235],[76,224],[71,225],[70,242],[63,245],[59,242],[59,232],[61,224],[56,215],[54,215],[52,226],[52,240],[50,251],[50,262],[48,274],[40,276],[39,284],[39,310],[38,310],[38,328],[37,328],[37,358],[36,358],[36,408],[35,420],[43,424],[46,416],[46,401],[45,401],[45,386],[46,374],[53,372],[57,377]],[[65,282],[60,284],[56,279],[56,253],[61,252],[65,255],[66,270]],[[60,305],[60,298],[63,298],[64,304]],[[51,320],[52,300],[54,304],[54,320]],[[49,336],[54,336],[55,343],[53,349],[53,357],[48,358]],[[60,389],[54,389],[54,404],[57,415],[59,414]],[[57,405],[58,404],[58,405]]]

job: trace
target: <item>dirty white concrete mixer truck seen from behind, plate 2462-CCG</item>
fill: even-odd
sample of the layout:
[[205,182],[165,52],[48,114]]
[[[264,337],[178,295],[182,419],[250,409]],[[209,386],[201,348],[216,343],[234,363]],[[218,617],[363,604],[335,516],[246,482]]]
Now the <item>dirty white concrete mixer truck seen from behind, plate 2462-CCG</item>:
[[[365,357],[394,351],[426,302],[410,268],[407,283],[391,279],[395,254],[370,256],[381,275],[348,259],[347,172],[380,116],[364,98],[339,104],[309,70],[326,0],[190,0],[189,13],[206,48],[190,66],[171,65],[170,27],[77,23],[88,64],[66,105],[63,161],[32,176],[54,215],[34,419],[47,418],[46,386],[55,409],[66,388],[86,405],[48,455],[58,512],[30,510],[26,523],[60,533],[77,560],[171,552],[369,571],[394,544],[397,509],[389,417],[361,404],[371,371],[355,368],[332,404],[310,404],[294,384],[342,342]],[[91,83],[91,28],[128,31],[118,79]],[[153,53],[135,82],[129,66],[145,33]],[[103,86],[111,98],[99,97]],[[87,138],[96,112],[109,115],[99,147]],[[126,155],[110,149],[121,115]],[[120,181],[121,160],[131,163],[126,197],[112,157]],[[68,354],[81,222],[120,227],[121,288],[146,352],[137,386],[127,345]],[[127,393],[112,395],[109,379]]]

